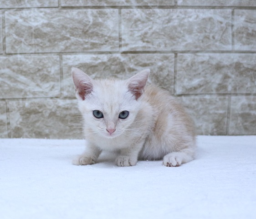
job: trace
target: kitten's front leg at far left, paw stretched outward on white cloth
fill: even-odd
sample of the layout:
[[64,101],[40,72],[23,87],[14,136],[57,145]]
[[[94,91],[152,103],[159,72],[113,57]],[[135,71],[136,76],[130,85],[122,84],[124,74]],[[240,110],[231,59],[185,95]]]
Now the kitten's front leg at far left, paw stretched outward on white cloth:
[[102,150],[96,146],[89,144],[84,153],[77,156],[77,158],[72,160],[74,165],[88,165],[95,164]]

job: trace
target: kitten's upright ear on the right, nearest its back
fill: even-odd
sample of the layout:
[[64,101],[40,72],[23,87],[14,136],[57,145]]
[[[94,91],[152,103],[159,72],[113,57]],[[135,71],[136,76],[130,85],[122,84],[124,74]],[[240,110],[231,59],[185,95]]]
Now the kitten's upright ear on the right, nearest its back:
[[145,69],[128,79],[128,90],[132,92],[136,100],[144,93],[149,72],[149,69]]

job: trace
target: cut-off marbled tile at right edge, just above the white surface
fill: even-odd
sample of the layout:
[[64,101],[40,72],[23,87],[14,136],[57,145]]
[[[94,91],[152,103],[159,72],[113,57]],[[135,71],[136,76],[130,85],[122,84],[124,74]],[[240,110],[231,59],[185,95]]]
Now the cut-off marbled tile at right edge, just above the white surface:
[[256,134],[256,96],[232,96],[228,134]]

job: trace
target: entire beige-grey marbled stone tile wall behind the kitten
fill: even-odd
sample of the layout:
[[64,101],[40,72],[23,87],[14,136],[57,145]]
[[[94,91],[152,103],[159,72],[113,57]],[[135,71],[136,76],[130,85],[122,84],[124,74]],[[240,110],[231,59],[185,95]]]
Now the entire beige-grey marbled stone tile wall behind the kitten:
[[256,134],[255,0],[0,0],[0,137],[82,138],[72,66],[150,68],[198,134]]

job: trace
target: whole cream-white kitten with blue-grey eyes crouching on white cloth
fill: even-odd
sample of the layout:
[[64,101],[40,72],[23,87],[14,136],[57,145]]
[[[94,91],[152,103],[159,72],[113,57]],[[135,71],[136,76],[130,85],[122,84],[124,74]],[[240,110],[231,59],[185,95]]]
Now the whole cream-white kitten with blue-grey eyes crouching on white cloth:
[[88,142],[72,164],[95,164],[102,150],[118,152],[118,166],[163,159],[164,166],[177,167],[194,159],[192,120],[168,91],[146,85],[149,72],[142,70],[128,80],[93,80],[72,68]]

